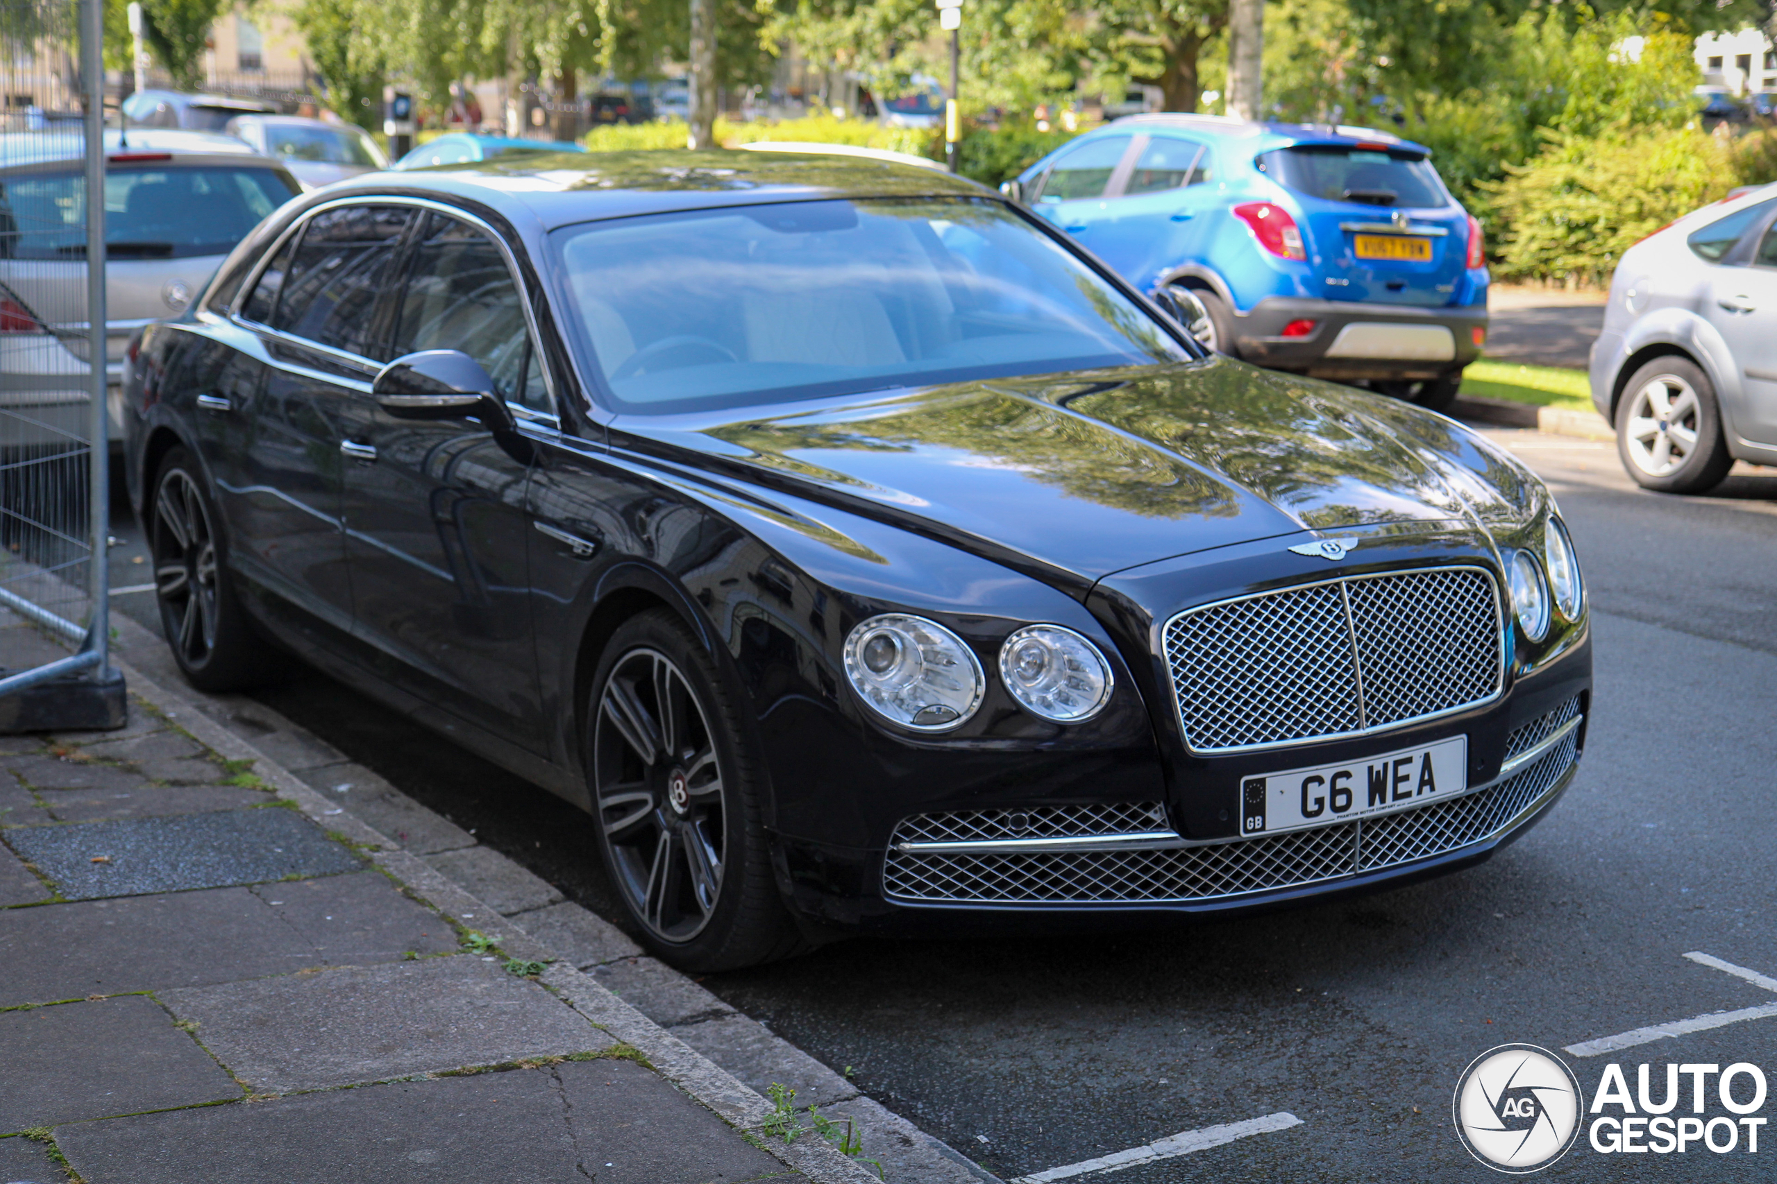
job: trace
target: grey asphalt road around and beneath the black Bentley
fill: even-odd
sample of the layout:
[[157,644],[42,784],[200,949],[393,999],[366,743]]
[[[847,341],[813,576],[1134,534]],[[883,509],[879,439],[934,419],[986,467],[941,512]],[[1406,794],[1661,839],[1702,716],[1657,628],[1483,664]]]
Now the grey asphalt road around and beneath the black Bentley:
[[[1358,902],[1146,934],[851,941],[704,985],[1008,1180],[1183,1131],[1301,1118],[1073,1177],[1118,1184],[1498,1179],[1452,1133],[1452,1088],[1486,1049],[1562,1049],[1777,1003],[1777,983],[1685,959],[1777,976],[1777,470],[1658,497],[1630,485],[1608,444],[1491,435],[1560,499],[1598,660],[1576,785],[1491,863]],[[146,582],[133,531],[116,533],[116,582]],[[151,621],[151,596],[116,604]],[[569,806],[325,678],[261,698],[617,918],[590,825]],[[1567,1062],[1589,1095],[1606,1063],[1633,1090],[1649,1062],[1658,1099],[1667,1062],[1777,1072],[1777,1024]],[[1733,1117],[1708,1086],[1704,1118]],[[1688,1085],[1685,1097],[1674,1117],[1688,1115]],[[1761,1113],[1777,1115],[1777,1081]],[[1745,1138],[1725,1154],[1605,1156],[1582,1136],[1544,1177],[1765,1180],[1772,1157],[1777,1133],[1757,1156]]]

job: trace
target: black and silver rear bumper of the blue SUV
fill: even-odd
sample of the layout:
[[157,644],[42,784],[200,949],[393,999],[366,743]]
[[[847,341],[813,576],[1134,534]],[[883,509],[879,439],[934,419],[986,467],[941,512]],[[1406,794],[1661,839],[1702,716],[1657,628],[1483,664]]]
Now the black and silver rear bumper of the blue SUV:
[[[1313,321],[1303,337],[1285,337],[1290,321]],[[1235,314],[1233,344],[1242,360],[1313,378],[1443,378],[1480,357],[1487,307],[1414,309],[1397,304],[1267,296]]]

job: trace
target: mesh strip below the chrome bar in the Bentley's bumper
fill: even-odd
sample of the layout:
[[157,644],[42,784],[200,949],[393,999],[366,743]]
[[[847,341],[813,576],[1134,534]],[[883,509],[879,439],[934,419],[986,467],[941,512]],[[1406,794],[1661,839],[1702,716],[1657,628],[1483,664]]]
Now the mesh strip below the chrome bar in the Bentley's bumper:
[[[1313,831],[1166,850],[929,854],[890,847],[890,900],[944,904],[1180,904],[1315,884],[1438,856],[1503,831],[1578,754],[1569,735],[1509,781],[1466,797]],[[915,822],[915,820],[908,820]],[[912,838],[908,824],[896,841]]]

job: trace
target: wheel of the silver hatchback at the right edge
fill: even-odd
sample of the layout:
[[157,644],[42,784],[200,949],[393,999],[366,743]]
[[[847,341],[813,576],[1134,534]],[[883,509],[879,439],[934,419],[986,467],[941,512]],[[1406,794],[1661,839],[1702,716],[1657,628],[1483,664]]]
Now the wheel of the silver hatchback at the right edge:
[[1702,493],[1722,483],[1734,458],[1701,366],[1667,355],[1635,371],[1617,401],[1617,456],[1646,490]]

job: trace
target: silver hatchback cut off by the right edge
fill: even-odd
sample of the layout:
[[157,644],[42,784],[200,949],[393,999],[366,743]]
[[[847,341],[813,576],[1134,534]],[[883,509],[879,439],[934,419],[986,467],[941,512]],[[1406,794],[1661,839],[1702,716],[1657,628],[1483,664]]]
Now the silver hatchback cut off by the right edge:
[[1622,252],[1590,378],[1644,488],[1701,493],[1736,458],[1777,465],[1777,186]]

